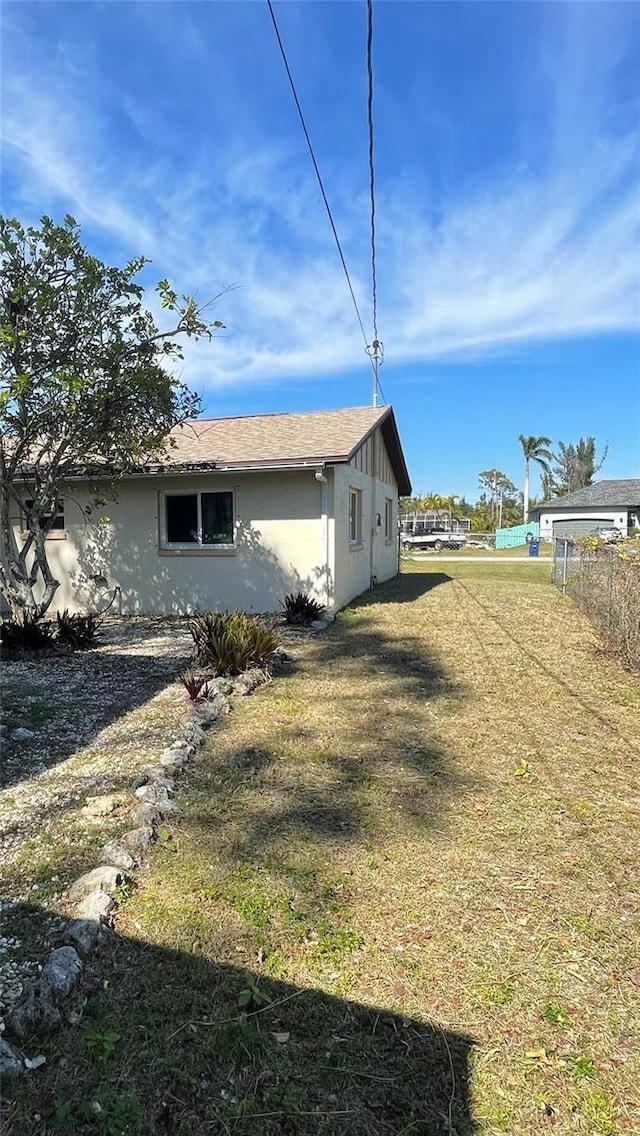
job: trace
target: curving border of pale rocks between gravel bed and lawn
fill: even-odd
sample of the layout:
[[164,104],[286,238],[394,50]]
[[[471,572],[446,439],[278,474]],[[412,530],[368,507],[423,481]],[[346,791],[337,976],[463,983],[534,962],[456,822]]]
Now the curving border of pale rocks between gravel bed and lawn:
[[75,908],[75,916],[63,928],[61,945],[49,953],[38,978],[25,984],[19,1000],[0,1021],[0,1074],[18,1076],[47,1061],[42,1054],[25,1056],[17,1045],[7,1041],[5,1030],[19,1043],[36,1028],[55,1030],[81,1020],[86,1001],[83,980],[89,959],[113,934],[110,917],[118,905],[118,887],[141,867],[144,853],[156,840],[158,825],[180,811],[173,800],[174,778],[202,745],[207,730],[230,712],[231,696],[251,694],[271,682],[272,675],[290,658],[280,649],[265,669],[247,670],[234,679],[211,679],[207,701],[189,707],[180,734],[163,751],[158,765],[142,770],[131,810],[133,827],[105,844],[100,863],[67,888],[66,896]]

